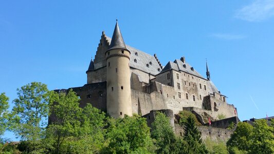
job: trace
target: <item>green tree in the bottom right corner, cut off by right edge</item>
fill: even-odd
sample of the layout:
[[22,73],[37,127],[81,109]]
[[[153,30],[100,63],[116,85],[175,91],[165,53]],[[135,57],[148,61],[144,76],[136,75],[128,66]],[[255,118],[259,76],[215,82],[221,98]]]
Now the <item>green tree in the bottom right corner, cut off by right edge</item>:
[[273,128],[268,126],[265,119],[256,120],[250,137],[251,153],[274,153]]

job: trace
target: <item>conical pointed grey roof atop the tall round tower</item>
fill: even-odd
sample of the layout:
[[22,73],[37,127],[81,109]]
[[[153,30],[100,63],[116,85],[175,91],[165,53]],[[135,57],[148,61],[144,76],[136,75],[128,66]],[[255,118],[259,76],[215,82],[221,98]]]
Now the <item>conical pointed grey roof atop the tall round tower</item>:
[[111,45],[109,45],[108,50],[112,50],[112,49],[126,49],[125,47],[125,43],[123,40],[123,36],[121,34],[119,25],[118,25],[118,20],[116,20],[116,25],[115,25],[115,29],[112,35],[112,42]]

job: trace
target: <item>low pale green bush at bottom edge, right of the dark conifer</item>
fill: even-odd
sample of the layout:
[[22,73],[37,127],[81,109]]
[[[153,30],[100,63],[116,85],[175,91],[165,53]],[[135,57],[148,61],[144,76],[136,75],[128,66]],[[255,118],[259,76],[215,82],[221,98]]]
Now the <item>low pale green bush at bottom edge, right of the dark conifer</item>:
[[217,153],[217,154],[228,154],[228,150],[226,144],[222,141],[215,142],[210,138],[205,140],[205,145],[209,151],[209,153]]

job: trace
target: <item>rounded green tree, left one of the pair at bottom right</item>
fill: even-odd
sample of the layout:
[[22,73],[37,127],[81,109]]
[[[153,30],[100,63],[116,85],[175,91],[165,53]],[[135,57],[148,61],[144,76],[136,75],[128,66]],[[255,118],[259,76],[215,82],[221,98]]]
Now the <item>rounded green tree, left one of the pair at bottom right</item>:
[[230,149],[237,147],[239,150],[248,151],[250,148],[250,138],[253,132],[253,127],[244,122],[238,123],[235,131],[231,134],[227,141],[227,146]]

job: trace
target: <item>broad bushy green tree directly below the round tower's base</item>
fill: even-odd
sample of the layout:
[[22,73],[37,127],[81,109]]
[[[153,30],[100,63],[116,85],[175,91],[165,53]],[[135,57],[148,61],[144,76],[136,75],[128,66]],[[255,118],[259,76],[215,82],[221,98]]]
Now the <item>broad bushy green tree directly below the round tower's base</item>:
[[147,153],[152,144],[150,128],[145,118],[125,115],[123,119],[109,119],[106,153]]

